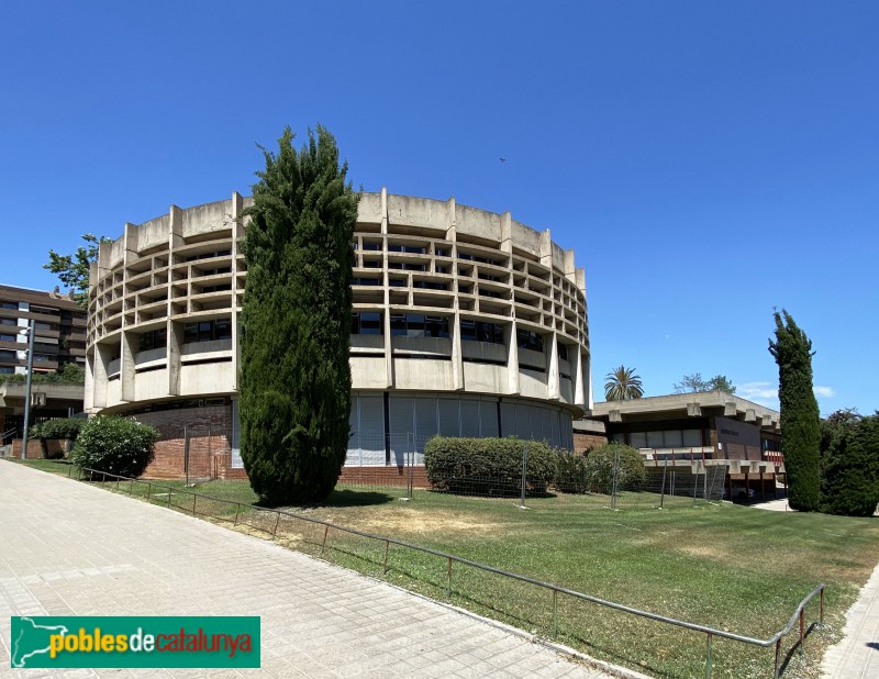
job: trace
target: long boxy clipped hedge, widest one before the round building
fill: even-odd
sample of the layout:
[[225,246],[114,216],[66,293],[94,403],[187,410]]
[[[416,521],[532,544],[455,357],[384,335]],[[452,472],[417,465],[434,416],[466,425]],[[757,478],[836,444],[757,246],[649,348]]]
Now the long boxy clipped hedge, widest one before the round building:
[[435,490],[515,496],[522,488],[522,454],[527,443],[526,491],[545,494],[555,475],[555,456],[545,443],[518,438],[434,436],[424,446],[427,479]]

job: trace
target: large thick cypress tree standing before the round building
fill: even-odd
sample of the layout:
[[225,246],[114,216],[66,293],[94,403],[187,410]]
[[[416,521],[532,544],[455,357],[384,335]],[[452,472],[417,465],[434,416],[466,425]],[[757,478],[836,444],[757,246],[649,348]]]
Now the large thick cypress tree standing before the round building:
[[335,487],[351,412],[352,238],[357,194],[333,135],[263,148],[244,238],[241,448],[269,504],[325,498]]

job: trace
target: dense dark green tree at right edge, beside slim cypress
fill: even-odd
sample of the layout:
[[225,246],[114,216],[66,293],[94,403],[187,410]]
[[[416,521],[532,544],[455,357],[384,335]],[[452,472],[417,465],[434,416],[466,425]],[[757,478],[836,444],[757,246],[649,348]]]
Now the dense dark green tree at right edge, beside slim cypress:
[[872,516],[879,505],[879,412],[839,410],[821,423],[821,511]]

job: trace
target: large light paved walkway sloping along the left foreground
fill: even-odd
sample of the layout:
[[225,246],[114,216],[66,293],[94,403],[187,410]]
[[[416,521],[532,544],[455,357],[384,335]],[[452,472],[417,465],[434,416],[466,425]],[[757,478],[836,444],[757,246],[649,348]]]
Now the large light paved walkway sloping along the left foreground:
[[[138,500],[2,460],[0,488],[3,677],[610,676],[382,582]],[[10,615],[260,615],[263,669],[12,670]]]

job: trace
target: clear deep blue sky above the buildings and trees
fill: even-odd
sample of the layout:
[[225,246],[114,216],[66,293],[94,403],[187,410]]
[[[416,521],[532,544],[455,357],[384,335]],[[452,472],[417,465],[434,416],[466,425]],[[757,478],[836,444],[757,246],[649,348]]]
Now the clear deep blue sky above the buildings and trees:
[[[879,408],[879,2],[4,5],[0,282],[49,247],[249,193],[289,124],[355,187],[503,212],[587,271],[596,397],[728,376],[777,404],[774,308],[822,413]],[[507,158],[500,163],[499,158]]]

